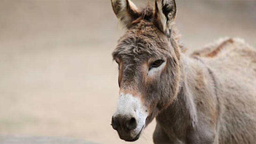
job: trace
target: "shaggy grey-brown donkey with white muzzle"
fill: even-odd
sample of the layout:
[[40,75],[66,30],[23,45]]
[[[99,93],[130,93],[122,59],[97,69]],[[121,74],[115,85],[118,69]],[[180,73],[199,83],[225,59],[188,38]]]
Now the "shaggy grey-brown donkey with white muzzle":
[[256,50],[238,38],[184,54],[175,0],[138,9],[111,0],[127,28],[113,51],[120,96],[111,125],[136,141],[156,118],[159,143],[256,143]]

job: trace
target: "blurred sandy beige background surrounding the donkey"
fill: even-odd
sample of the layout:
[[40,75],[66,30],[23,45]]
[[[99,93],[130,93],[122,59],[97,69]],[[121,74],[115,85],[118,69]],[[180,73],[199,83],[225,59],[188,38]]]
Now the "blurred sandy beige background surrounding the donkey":
[[[254,0],[178,0],[177,9],[187,54],[226,36],[256,47]],[[126,143],[110,125],[111,52],[123,33],[110,0],[0,0],[0,135]],[[152,143],[154,126],[135,143]]]

